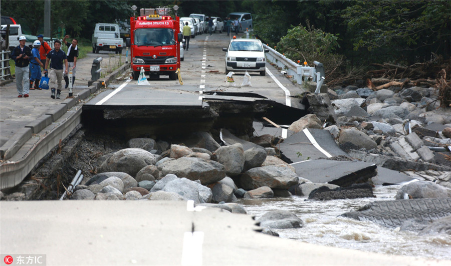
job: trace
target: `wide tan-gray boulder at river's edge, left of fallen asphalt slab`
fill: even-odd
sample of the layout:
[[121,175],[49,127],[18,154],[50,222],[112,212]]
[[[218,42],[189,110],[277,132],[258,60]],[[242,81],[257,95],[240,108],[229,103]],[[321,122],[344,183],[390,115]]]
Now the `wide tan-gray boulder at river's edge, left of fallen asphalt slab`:
[[298,182],[298,176],[284,165],[255,167],[240,176],[241,187],[255,189],[261,186],[288,189]]

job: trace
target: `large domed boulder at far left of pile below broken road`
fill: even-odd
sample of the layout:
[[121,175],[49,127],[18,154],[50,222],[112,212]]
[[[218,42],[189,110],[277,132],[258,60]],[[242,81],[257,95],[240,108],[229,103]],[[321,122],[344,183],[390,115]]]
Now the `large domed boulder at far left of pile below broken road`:
[[98,172],[119,171],[136,176],[144,166],[155,164],[154,154],[142,148],[124,148],[118,150],[105,160],[99,167]]

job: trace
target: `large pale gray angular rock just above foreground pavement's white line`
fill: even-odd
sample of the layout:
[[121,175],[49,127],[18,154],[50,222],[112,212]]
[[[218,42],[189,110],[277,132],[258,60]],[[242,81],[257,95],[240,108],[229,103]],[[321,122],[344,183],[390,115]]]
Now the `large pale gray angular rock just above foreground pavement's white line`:
[[194,200],[194,203],[209,203],[213,197],[210,188],[184,177],[169,181],[162,190],[175,192],[185,200]]

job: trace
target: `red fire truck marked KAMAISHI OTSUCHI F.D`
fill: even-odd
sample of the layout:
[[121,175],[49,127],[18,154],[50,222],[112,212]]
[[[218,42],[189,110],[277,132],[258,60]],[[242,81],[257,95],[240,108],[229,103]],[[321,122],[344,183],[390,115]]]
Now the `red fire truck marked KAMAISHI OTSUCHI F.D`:
[[133,79],[137,80],[141,68],[146,75],[158,77],[169,75],[177,78],[176,70],[180,67],[180,18],[172,19],[168,15],[149,14],[130,17],[131,67]]

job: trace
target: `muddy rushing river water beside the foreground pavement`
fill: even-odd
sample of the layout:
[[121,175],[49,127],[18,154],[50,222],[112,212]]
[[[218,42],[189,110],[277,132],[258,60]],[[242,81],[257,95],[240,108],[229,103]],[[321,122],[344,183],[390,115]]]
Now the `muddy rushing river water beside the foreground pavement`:
[[307,197],[241,199],[248,214],[256,218],[270,210],[289,210],[304,222],[302,228],[276,229],[282,238],[387,254],[451,259],[451,235],[418,235],[413,231],[391,229],[370,221],[338,215],[356,210],[376,200],[394,199],[401,185],[377,186],[376,198],[305,200]]

